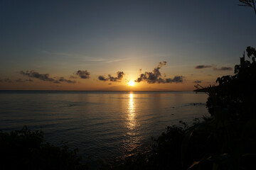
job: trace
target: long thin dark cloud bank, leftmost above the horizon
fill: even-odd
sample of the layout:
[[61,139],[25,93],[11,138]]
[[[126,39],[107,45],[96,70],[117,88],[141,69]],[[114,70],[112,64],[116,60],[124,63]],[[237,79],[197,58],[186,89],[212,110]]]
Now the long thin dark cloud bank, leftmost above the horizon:
[[[35,72],[33,70],[26,71],[26,72],[21,71],[20,73],[23,74],[24,76],[40,79],[40,80],[43,80],[43,81],[50,81],[50,82],[53,82],[55,84],[60,84],[60,82],[66,82],[66,83],[75,83],[76,82],[76,81],[71,81],[71,80],[68,80],[68,79],[64,79],[64,77],[60,77],[60,79],[53,79],[53,78],[50,77],[50,74],[40,74],[40,73]],[[21,80],[18,79],[18,81],[21,81]],[[28,79],[28,81],[33,81],[33,80]]]

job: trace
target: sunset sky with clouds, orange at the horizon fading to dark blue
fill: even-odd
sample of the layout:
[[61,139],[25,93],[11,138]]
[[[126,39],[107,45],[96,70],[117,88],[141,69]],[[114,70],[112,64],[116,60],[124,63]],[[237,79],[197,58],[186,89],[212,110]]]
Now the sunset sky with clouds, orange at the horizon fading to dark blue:
[[256,47],[255,13],[238,4],[0,0],[0,90],[213,85]]

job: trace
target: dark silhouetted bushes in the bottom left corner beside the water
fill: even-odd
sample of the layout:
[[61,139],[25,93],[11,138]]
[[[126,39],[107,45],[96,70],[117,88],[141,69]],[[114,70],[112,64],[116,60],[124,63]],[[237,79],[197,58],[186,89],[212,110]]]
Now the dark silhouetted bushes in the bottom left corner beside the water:
[[21,130],[0,132],[0,169],[85,169],[78,149],[54,147],[43,140],[43,132]]

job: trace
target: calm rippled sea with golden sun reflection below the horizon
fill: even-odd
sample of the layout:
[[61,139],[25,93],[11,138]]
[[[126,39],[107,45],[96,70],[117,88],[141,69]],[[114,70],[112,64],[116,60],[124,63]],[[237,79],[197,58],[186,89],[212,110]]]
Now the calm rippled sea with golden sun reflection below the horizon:
[[206,94],[127,91],[1,91],[0,130],[43,130],[82,157],[117,159],[141,152],[179,120],[208,115]]

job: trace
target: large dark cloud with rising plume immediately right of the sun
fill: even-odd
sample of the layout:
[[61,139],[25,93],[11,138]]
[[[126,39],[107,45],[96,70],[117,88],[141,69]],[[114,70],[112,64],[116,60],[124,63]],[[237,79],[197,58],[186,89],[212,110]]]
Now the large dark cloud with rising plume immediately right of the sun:
[[137,80],[135,80],[135,82],[139,83],[141,81],[146,81],[149,84],[182,83],[183,82],[182,76],[175,76],[173,79],[171,78],[163,79],[161,77],[161,72],[159,71],[159,69],[161,69],[161,67],[165,65],[166,65],[166,62],[159,62],[157,67],[154,68],[152,72],[144,72],[143,74],[140,74]]

